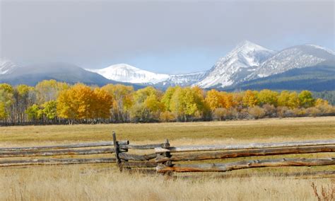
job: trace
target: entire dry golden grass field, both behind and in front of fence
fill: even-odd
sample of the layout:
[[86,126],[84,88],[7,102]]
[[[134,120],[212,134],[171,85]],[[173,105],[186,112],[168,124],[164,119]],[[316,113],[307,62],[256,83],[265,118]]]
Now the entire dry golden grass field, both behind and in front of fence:
[[[112,130],[117,132],[119,140],[129,139],[131,144],[163,142],[164,139],[170,139],[172,146],[285,142],[334,139],[335,117],[0,127],[0,147],[112,140]],[[335,157],[335,154],[291,154],[285,157],[313,156]],[[234,160],[241,158],[225,161]],[[335,176],[293,174],[312,171],[335,171],[335,166],[180,173],[172,178],[119,173],[109,163],[7,167],[0,168],[0,200],[317,200],[312,183],[317,185],[319,192],[321,186],[331,190],[335,188]]]

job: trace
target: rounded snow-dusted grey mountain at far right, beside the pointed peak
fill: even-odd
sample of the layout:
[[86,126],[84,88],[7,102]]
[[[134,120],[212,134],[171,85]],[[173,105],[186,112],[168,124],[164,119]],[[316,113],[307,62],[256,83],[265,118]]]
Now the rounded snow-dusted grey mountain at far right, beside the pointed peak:
[[245,80],[280,74],[290,69],[312,67],[329,59],[335,59],[335,53],[318,45],[289,47],[266,59]]

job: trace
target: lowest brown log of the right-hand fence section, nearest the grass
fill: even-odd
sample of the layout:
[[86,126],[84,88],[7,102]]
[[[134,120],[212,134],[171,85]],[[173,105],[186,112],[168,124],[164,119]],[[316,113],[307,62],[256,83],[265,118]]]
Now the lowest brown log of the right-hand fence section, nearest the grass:
[[158,173],[175,172],[225,172],[244,168],[282,167],[282,166],[330,166],[335,165],[335,158],[327,159],[272,159],[238,161],[233,163],[174,164],[157,166]]

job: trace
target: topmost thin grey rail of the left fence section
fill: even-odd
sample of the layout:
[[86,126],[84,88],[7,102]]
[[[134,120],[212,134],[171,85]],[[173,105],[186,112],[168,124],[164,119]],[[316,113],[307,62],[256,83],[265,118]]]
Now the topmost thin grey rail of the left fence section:
[[[120,144],[129,144],[129,141],[119,142]],[[32,151],[40,149],[71,149],[71,148],[83,148],[83,147],[105,147],[114,146],[112,142],[91,142],[91,143],[79,143],[79,144],[63,144],[63,145],[52,145],[42,147],[2,147],[0,151]]]

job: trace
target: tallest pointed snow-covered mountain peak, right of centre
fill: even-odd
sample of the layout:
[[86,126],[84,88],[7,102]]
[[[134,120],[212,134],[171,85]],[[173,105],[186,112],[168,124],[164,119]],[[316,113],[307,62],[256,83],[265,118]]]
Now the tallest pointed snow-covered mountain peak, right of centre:
[[237,45],[206,73],[195,85],[201,88],[225,87],[245,79],[276,52],[247,40]]

